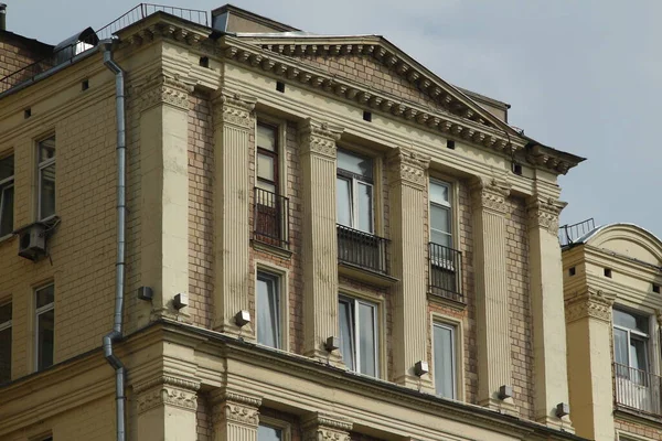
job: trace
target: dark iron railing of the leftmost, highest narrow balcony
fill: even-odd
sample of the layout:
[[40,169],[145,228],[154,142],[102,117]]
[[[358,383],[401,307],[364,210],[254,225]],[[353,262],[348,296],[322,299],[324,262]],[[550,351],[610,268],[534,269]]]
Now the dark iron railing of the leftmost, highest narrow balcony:
[[254,226],[255,240],[289,249],[289,200],[255,187]]

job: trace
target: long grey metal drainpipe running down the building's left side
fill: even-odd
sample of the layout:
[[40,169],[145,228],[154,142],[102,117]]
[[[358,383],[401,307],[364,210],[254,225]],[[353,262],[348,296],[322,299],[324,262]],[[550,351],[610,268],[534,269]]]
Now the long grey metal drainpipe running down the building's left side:
[[113,343],[121,338],[124,282],[125,282],[125,229],[127,205],[126,193],[126,129],[125,129],[125,85],[124,71],[113,61],[113,40],[100,42],[104,64],[115,74],[115,111],[117,119],[117,263],[115,280],[115,315],[113,331],[104,336],[104,356],[115,369],[115,399],[117,401],[117,441],[126,440],[125,423],[125,379],[126,369],[113,352]]

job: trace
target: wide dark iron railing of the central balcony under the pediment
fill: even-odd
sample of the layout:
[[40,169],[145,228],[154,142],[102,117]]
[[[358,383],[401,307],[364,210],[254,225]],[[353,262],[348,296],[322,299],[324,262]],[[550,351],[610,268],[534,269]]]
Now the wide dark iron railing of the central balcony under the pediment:
[[380,272],[388,273],[387,252],[391,240],[360,232],[344,225],[337,225],[338,260]]

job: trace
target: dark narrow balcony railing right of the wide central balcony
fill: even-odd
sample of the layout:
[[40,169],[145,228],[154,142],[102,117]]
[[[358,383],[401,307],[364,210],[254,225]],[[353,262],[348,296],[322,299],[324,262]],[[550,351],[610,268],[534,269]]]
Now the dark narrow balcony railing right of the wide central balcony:
[[462,252],[429,243],[429,292],[458,302],[462,295]]

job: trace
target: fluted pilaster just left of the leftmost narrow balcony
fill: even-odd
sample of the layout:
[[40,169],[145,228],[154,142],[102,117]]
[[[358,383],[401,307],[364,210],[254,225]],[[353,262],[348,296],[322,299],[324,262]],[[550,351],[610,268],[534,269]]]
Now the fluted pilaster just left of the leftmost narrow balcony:
[[250,311],[248,213],[252,138],[255,132],[255,99],[221,93],[214,108],[214,320],[215,330],[254,338],[250,323],[235,323],[237,312]]

